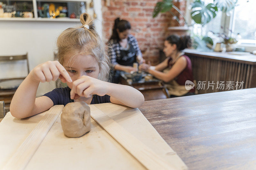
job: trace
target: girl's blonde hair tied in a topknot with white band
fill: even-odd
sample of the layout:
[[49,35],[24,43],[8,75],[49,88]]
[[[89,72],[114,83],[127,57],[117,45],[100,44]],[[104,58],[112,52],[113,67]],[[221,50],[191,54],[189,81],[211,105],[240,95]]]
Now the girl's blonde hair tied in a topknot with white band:
[[[57,39],[57,59],[63,65],[64,57],[70,55],[71,59],[77,55],[92,55],[99,63],[99,79],[108,81],[109,58],[106,55],[106,46],[94,30],[93,20],[88,13],[80,15],[82,26],[68,28]],[[89,29],[84,27],[88,25]]]

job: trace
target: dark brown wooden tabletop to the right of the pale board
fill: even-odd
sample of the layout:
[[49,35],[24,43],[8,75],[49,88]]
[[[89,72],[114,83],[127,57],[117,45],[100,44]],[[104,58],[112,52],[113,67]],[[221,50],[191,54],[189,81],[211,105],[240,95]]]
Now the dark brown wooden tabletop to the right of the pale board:
[[256,88],[146,101],[139,109],[189,169],[256,169]]

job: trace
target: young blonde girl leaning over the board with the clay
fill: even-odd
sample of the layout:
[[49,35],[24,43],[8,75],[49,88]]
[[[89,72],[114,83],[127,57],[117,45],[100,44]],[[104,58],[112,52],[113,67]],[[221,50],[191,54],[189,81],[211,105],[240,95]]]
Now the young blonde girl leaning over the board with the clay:
[[[137,108],[144,96],[136,89],[106,82],[108,56],[105,46],[93,28],[90,15],[80,16],[83,26],[68,28],[57,40],[58,60],[36,66],[20,84],[10,106],[12,116],[25,118],[50,109],[53,105],[84,101],[87,104],[116,103]],[[54,89],[36,98],[40,82],[67,83],[67,88]]]

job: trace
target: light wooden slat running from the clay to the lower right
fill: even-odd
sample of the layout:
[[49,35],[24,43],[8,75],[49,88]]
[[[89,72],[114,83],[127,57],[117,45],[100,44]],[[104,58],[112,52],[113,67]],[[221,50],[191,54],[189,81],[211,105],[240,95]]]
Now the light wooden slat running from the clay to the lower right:
[[96,106],[90,108],[91,117],[147,169],[175,169]]

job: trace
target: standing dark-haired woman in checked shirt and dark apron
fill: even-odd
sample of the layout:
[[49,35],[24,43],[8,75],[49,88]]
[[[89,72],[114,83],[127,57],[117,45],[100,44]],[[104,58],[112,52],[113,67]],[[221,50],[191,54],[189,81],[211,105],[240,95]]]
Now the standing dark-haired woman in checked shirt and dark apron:
[[120,71],[130,73],[137,71],[132,67],[133,63],[142,63],[144,60],[140,52],[137,40],[131,32],[131,24],[123,19],[116,18],[109,44],[113,50],[109,50],[112,65],[112,82],[118,83]]

